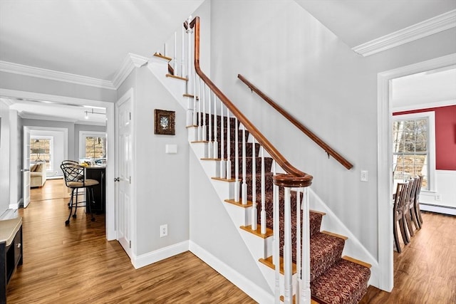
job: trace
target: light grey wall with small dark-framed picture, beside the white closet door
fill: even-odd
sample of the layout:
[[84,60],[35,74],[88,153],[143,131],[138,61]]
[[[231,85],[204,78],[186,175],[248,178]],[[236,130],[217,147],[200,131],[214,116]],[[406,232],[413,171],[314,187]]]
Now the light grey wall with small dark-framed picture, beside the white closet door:
[[[185,110],[147,67],[135,68],[118,90],[122,96],[134,89],[133,177],[135,219],[134,255],[144,263],[154,253],[189,239],[189,164]],[[175,135],[154,134],[154,109],[175,111]],[[176,154],[166,154],[165,145],[177,145]],[[160,225],[168,235],[160,238]],[[187,247],[188,248],[188,247]],[[138,264],[143,264],[139,262]]]

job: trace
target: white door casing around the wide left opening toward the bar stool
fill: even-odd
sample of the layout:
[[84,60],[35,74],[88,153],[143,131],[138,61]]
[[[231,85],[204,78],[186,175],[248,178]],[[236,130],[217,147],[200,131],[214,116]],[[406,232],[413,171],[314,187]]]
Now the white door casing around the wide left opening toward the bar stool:
[[[114,159],[114,103],[104,100],[91,100],[83,98],[73,98],[62,95],[50,95],[34,92],[26,92],[21,90],[8,90],[0,88],[0,96],[4,98],[24,98],[31,100],[48,100],[53,103],[69,103],[72,105],[91,105],[95,107],[106,108],[106,133],[107,145],[106,158]],[[14,133],[17,133],[17,130],[11,130]],[[17,136],[17,134],[11,134],[11,136]],[[112,144],[111,144],[112,143]],[[114,209],[114,167],[115,164],[113,161],[107,162],[106,164],[106,214],[105,214],[105,229],[106,229],[106,239],[108,241],[115,239],[115,209]],[[18,173],[19,174],[19,173]],[[10,181],[10,188],[16,187],[17,180]]]

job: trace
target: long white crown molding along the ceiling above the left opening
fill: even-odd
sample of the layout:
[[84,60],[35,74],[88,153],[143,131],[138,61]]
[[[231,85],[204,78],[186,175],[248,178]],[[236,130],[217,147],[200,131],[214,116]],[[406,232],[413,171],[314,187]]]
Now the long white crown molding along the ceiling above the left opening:
[[92,87],[108,90],[116,90],[113,83],[109,80],[59,72],[57,70],[48,70],[46,68],[36,68],[30,65],[22,65],[8,61],[0,61],[0,71],[50,80],[58,80],[66,83],[76,83],[78,85],[90,85]]

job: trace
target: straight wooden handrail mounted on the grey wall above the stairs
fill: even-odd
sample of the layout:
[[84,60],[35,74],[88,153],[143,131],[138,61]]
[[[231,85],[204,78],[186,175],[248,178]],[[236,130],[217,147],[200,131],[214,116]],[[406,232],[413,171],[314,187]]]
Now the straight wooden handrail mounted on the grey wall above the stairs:
[[314,142],[316,142],[318,146],[320,146],[323,150],[325,150],[326,153],[328,153],[328,157],[329,155],[331,155],[332,157],[334,157],[334,159],[340,162],[343,165],[343,167],[346,167],[348,170],[353,168],[353,164],[351,164],[351,162],[348,162],[348,160],[342,157],[341,154],[338,154],[338,152],[334,151],[333,148],[326,144],[326,142],[323,142],[323,140],[321,140],[320,137],[318,137],[314,132],[309,130],[306,126],[301,124],[301,122],[296,120],[296,118],[294,118],[293,115],[291,115],[289,112],[286,112],[284,108],[281,108],[280,105],[277,105],[274,102],[274,100],[271,100],[271,98],[269,98],[266,94],[261,92],[259,88],[250,83],[249,80],[247,80],[244,76],[238,74],[237,78],[239,78],[243,83],[245,83],[250,88],[250,90],[257,93],[259,97],[263,98],[263,100],[266,101],[266,103],[269,103],[269,105],[271,105],[272,108],[276,109],[277,112],[279,112],[281,115],[284,115],[284,117],[287,120],[289,120],[293,125],[298,127],[298,129],[304,132],[304,134],[307,135],[311,140],[314,140]]

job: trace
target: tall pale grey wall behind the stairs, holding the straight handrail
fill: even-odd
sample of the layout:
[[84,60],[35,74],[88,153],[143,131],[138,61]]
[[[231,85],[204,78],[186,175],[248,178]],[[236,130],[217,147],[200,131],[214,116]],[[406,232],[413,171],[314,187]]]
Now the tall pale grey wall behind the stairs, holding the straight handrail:
[[[455,34],[453,28],[363,58],[294,1],[215,0],[212,78],[291,164],[314,176],[316,194],[376,257],[377,74],[455,53]],[[252,95],[238,73],[353,162],[353,169],[328,159]],[[368,182],[360,182],[361,169],[368,170]]]

